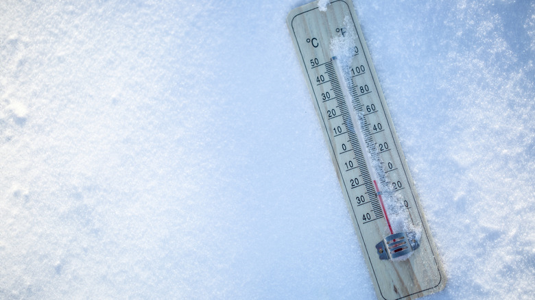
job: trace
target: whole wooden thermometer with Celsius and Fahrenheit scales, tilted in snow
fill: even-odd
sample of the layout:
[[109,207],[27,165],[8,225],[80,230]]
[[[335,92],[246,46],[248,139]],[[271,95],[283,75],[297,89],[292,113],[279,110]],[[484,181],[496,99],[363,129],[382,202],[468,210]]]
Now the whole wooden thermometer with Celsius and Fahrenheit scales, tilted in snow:
[[442,290],[447,279],[353,4],[314,1],[287,25],[377,298]]

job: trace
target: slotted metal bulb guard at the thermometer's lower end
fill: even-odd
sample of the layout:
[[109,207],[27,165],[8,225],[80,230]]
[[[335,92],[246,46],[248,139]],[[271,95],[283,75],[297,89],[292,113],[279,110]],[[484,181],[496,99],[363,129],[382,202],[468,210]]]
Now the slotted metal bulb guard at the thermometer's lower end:
[[412,251],[418,249],[418,247],[420,247],[420,243],[417,240],[409,240],[405,232],[391,234],[375,245],[377,254],[379,254],[381,260],[401,258],[404,255],[409,255]]

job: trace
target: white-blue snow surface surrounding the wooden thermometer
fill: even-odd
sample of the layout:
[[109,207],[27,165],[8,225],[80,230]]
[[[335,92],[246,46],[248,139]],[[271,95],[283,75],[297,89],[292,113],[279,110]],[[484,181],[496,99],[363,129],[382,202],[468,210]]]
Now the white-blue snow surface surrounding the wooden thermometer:
[[[375,299],[307,1],[79,2],[0,3],[0,298]],[[449,276],[427,299],[534,299],[535,4],[355,8]]]

